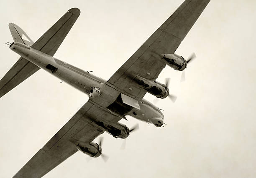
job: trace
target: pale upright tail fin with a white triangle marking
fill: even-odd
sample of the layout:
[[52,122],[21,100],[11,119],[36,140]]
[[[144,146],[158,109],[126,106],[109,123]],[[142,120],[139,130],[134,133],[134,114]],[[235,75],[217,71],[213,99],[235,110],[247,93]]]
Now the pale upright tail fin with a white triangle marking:
[[13,36],[13,41],[22,43],[24,45],[33,45],[33,40],[22,30],[18,25],[9,23],[9,29]]

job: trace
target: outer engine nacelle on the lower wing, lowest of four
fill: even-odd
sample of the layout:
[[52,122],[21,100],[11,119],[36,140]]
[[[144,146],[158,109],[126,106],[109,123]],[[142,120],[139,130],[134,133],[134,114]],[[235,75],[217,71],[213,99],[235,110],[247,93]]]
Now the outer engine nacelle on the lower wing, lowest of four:
[[84,154],[87,154],[95,158],[99,157],[102,151],[101,146],[94,142],[78,143],[76,147],[78,150],[82,151]]

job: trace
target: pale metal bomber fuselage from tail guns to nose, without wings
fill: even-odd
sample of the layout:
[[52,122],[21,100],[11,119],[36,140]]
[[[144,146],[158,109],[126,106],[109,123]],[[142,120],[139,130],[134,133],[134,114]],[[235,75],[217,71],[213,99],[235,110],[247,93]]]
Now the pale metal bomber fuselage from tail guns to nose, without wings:
[[[109,96],[109,100],[113,100],[113,102],[116,100],[116,96],[112,93],[117,93],[118,91],[112,87],[108,87],[108,85],[106,85],[106,80],[99,78],[88,71],[74,67],[73,65],[65,63],[64,61],[21,43],[13,43],[10,46],[10,49],[21,55],[23,58],[26,58],[31,63],[37,65],[39,68],[46,70],[51,75],[54,75],[65,83],[68,83],[72,87],[89,95],[89,97],[90,91],[96,87],[103,89],[103,92]],[[141,108],[140,110],[131,108],[124,114],[131,115],[132,117],[147,123],[153,123],[158,127],[163,125],[164,115],[161,113],[159,108],[145,99],[142,99],[139,102],[139,105]],[[103,105],[103,107],[107,108],[108,105]]]

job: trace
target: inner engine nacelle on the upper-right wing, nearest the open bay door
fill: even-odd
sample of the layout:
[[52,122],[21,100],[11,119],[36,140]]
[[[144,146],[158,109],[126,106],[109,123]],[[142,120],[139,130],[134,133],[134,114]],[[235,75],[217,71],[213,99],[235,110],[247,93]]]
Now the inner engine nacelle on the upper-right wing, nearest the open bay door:
[[138,75],[136,76],[135,81],[139,87],[143,88],[148,93],[155,95],[157,98],[166,98],[169,95],[169,89],[162,83],[148,80]]

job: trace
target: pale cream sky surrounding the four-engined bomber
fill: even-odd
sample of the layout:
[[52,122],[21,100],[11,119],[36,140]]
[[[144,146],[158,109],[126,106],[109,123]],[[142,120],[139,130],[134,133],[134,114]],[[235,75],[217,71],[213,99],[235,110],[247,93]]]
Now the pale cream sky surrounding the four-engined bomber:
[[[0,78],[19,56],[8,23],[36,41],[70,8],[81,10],[54,57],[108,80],[183,0],[0,1]],[[135,118],[121,122],[140,129],[126,149],[122,139],[104,133],[102,153],[87,161],[77,152],[44,177],[254,178],[256,177],[256,2],[212,0],[176,53],[189,63],[186,81],[166,66],[157,81],[171,78],[178,96],[156,104],[164,128]],[[0,177],[9,178],[87,102],[84,93],[39,70],[0,98]],[[149,101],[154,96],[146,94]],[[95,142],[97,142],[97,138]]]

